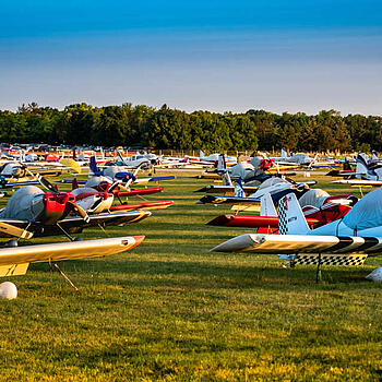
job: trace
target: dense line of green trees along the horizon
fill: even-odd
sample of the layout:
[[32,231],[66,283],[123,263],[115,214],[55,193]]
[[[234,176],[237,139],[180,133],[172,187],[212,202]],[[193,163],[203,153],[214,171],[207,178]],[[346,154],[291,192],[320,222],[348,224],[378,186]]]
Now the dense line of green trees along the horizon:
[[323,110],[282,115],[186,112],[132,104],[63,110],[22,105],[0,111],[0,142],[206,151],[382,151],[382,117]]

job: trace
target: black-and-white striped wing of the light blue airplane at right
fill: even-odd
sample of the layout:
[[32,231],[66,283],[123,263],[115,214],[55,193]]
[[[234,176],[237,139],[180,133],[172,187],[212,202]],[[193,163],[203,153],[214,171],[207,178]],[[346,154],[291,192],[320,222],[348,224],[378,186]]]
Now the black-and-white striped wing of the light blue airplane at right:
[[374,253],[382,238],[246,234],[229,239],[211,251],[239,253]]

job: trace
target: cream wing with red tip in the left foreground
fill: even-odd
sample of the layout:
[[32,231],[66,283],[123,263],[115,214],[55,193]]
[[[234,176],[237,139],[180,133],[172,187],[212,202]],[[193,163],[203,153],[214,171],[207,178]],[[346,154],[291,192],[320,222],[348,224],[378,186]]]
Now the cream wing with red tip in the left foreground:
[[25,274],[29,263],[96,258],[128,251],[144,236],[57,242],[0,249],[0,276]]

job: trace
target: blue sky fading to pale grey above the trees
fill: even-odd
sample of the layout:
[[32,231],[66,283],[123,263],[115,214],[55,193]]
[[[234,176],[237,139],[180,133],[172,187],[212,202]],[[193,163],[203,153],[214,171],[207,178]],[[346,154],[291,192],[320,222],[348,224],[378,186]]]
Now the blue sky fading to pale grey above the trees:
[[381,0],[4,0],[0,109],[382,115]]

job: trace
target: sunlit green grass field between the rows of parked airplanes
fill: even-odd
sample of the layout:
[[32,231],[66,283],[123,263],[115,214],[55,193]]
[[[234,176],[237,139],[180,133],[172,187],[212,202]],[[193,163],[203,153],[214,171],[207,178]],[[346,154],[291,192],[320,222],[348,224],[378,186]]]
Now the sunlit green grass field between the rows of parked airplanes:
[[187,176],[147,198],[172,199],[172,207],[107,230],[144,234],[141,246],[60,264],[80,293],[57,273],[51,280],[47,264],[8,278],[19,297],[0,301],[0,380],[380,380],[382,291],[365,276],[382,259],[324,267],[317,285],[314,266],[210,253],[251,230],[206,226],[228,208],[195,204],[192,191],[211,181]]

